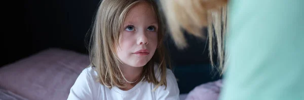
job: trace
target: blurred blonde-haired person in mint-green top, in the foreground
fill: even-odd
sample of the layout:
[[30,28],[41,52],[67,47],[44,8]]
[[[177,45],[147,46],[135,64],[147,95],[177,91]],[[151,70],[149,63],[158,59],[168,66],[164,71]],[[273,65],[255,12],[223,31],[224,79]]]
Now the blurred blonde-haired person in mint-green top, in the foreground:
[[[215,53],[218,58],[217,63],[210,61],[224,75],[219,99],[304,98],[304,1],[162,0],[161,4],[179,48],[187,47],[181,29],[208,39],[210,59]],[[201,32],[204,27],[208,36]],[[192,93],[188,96],[195,96]]]

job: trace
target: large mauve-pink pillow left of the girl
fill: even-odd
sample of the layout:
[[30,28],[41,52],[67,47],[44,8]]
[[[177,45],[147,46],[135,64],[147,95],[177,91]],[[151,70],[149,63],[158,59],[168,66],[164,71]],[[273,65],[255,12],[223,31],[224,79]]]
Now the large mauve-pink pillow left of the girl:
[[0,87],[28,99],[67,99],[89,57],[51,48],[0,68]]

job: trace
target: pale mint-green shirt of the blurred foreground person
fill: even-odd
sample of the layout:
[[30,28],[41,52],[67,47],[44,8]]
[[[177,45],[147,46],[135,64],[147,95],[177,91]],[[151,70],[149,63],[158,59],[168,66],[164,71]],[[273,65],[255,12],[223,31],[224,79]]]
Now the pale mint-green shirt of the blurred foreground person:
[[220,99],[304,99],[304,0],[231,0],[228,14]]

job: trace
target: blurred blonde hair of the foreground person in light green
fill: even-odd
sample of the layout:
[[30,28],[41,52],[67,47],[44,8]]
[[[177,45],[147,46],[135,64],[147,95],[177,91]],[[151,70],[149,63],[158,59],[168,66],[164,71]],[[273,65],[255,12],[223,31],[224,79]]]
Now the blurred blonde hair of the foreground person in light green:
[[[189,34],[205,38],[204,27],[208,28],[209,57],[214,66],[213,54],[217,51],[218,66],[224,70],[224,38],[226,33],[227,0],[161,0],[162,8],[170,27],[170,33],[179,48],[187,47],[181,28]],[[214,39],[215,38],[215,39]],[[213,49],[216,44],[216,50]]]

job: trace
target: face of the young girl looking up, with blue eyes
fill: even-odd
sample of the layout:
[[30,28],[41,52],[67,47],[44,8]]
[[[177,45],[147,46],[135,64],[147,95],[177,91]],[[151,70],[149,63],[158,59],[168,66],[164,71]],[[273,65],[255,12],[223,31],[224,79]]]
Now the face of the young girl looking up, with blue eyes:
[[158,20],[153,8],[140,2],[126,15],[117,55],[124,65],[144,66],[158,45]]

